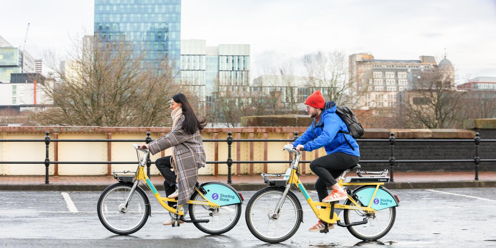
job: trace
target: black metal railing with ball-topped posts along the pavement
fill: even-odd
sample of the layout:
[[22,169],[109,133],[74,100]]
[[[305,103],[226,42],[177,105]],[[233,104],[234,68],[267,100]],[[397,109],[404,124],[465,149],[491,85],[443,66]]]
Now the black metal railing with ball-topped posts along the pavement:
[[[1,161],[0,164],[44,164],[45,165],[45,184],[49,184],[49,167],[50,164],[135,164],[136,161],[50,161],[49,157],[49,146],[50,142],[146,142],[147,144],[153,141],[150,137],[150,132],[146,132],[145,139],[51,139],[49,131],[45,132],[45,139],[3,139],[0,142],[45,142],[46,146],[46,157],[45,161]],[[232,183],[231,179],[231,169],[233,164],[280,164],[288,163],[285,161],[233,161],[231,157],[231,150],[233,142],[291,142],[298,138],[298,131],[294,132],[293,139],[234,139],[231,135],[232,132],[229,131],[226,139],[203,139],[203,142],[227,142],[228,146],[228,156],[226,161],[207,161],[207,164],[227,164],[228,167],[228,180],[229,184]],[[484,142],[496,142],[496,139],[481,139],[479,133],[475,133],[474,139],[396,139],[394,137],[394,132],[390,133],[390,137],[387,139],[358,139],[358,142],[389,142],[390,146],[390,156],[387,160],[360,160],[359,163],[386,163],[389,164],[390,181],[394,182],[394,165],[396,163],[455,163],[455,162],[473,162],[475,164],[475,177],[474,180],[479,180],[479,164],[481,162],[496,162],[496,159],[481,159],[479,157],[479,147],[482,141]],[[475,142],[475,156],[473,159],[415,159],[415,160],[396,160],[394,158],[394,147],[396,142]],[[251,150],[251,152],[253,152]],[[300,163],[310,163],[310,160],[303,160]],[[154,164],[150,160],[150,157],[146,159],[146,173],[150,176],[150,166]]]

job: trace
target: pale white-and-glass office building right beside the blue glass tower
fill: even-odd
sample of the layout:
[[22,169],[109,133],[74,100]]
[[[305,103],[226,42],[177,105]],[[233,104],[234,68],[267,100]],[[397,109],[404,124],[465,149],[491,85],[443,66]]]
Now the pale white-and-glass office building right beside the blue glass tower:
[[211,106],[214,92],[248,91],[249,45],[182,40],[181,80],[197,92],[200,106]]

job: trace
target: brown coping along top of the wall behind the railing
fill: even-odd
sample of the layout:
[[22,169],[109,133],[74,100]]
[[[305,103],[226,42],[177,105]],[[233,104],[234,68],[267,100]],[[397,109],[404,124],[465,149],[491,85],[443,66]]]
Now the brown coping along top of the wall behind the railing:
[[[496,119],[494,119],[496,120]],[[294,133],[305,132],[308,127],[264,126],[264,127],[206,127],[204,133]],[[106,127],[106,126],[0,126],[0,132],[169,132],[171,127]],[[387,129],[366,128],[362,138],[389,138],[394,132],[395,138],[474,138],[471,129]]]

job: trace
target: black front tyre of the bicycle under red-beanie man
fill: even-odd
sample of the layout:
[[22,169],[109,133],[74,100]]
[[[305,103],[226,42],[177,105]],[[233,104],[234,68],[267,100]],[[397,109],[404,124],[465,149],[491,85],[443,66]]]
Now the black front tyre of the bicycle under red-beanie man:
[[[292,201],[293,205],[297,208],[297,209],[295,209],[296,213],[297,213],[296,222],[294,223],[292,230],[287,235],[285,235],[281,238],[278,238],[278,239],[270,239],[270,238],[264,237],[263,235],[258,233],[256,228],[253,226],[251,215],[252,215],[252,210],[253,210],[252,208],[254,206],[254,202],[258,199],[259,196],[263,195],[264,193],[270,192],[270,191],[277,191],[277,192],[280,192],[282,194],[284,192],[284,188],[272,186],[272,187],[264,187],[264,188],[256,191],[253,194],[253,196],[250,198],[250,200],[248,201],[246,212],[245,212],[245,219],[246,219],[246,223],[247,223],[249,231],[257,239],[259,239],[263,242],[267,242],[267,243],[280,243],[280,242],[286,241],[287,239],[291,238],[298,231],[298,228],[300,227],[302,217],[303,217],[303,210],[302,210],[300,201],[298,200],[296,195],[293,192],[289,191],[288,194],[286,195],[286,197],[288,199],[290,199],[290,201]],[[276,204],[277,204],[277,202],[276,202]],[[274,205],[274,208],[275,207],[276,206]]]

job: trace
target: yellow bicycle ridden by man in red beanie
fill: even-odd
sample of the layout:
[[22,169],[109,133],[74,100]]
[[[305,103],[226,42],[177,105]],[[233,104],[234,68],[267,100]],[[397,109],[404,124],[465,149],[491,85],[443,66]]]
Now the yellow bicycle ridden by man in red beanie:
[[[279,243],[291,238],[303,222],[303,209],[295,193],[290,190],[295,186],[310,205],[315,216],[324,223],[337,224],[361,240],[377,240],[391,230],[399,206],[397,195],[393,195],[384,185],[389,181],[387,170],[380,172],[361,172],[360,165],[347,169],[339,177],[339,185],[344,186],[348,199],[344,204],[313,201],[298,178],[298,164],[302,152],[285,145],[286,150],[294,154],[291,166],[285,174],[265,174],[261,176],[269,187],[258,190],[250,198],[245,218],[250,232],[259,240],[267,243]],[[346,177],[346,173],[357,170],[357,177]],[[372,174],[372,175],[362,175]],[[353,191],[347,186],[359,186]],[[325,208],[318,208],[325,207]],[[335,210],[343,211],[344,223]]]

